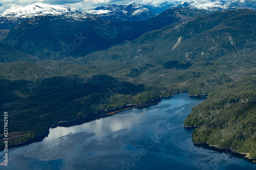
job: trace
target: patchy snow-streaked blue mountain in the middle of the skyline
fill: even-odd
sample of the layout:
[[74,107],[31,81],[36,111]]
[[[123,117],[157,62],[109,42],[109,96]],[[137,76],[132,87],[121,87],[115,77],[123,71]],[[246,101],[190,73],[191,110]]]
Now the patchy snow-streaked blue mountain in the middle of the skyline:
[[114,21],[141,21],[148,20],[155,13],[142,4],[115,5],[107,4],[87,11],[88,14]]

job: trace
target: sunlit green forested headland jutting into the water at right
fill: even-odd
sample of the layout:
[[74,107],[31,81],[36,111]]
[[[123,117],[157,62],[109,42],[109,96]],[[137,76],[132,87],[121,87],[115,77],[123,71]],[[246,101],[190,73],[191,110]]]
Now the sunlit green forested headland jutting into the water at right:
[[185,126],[199,126],[194,142],[250,153],[256,157],[256,79],[214,87],[209,100],[193,108]]

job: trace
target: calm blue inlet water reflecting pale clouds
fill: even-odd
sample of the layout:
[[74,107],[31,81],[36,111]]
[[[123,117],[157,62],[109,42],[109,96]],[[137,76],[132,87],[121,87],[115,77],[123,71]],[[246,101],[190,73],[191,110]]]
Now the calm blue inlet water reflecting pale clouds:
[[229,153],[194,146],[193,129],[183,122],[203,100],[179,93],[150,108],[51,129],[41,142],[10,149],[8,167],[0,169],[256,169]]

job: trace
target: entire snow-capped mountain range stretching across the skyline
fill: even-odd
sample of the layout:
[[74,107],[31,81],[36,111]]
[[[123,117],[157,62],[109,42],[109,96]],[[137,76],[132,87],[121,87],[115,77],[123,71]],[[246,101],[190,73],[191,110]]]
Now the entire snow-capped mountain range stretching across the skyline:
[[0,30],[11,29],[24,20],[38,15],[68,15],[75,18],[88,16],[100,17],[112,21],[142,21],[148,20],[168,8],[188,8],[207,11],[220,11],[238,8],[256,8],[255,0],[189,0],[189,1],[156,1],[148,4],[115,5],[107,4],[91,10],[74,9],[60,5],[43,3],[32,4],[23,8],[7,10],[0,13]]

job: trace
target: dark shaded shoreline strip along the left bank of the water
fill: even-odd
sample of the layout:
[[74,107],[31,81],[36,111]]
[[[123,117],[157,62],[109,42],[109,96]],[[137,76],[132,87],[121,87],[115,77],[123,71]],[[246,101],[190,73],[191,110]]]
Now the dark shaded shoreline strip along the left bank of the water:
[[[49,135],[51,128],[56,128],[58,126],[70,127],[70,126],[80,125],[80,124],[83,124],[83,123],[88,123],[88,122],[91,122],[91,121],[96,120],[98,118],[102,118],[102,117],[105,117],[105,116],[116,114],[116,113],[124,111],[124,110],[129,110],[129,109],[137,108],[137,107],[140,107],[140,106],[147,106],[147,105],[158,104],[158,103],[160,103],[161,99],[170,98],[170,97],[172,97],[175,94],[182,93],[182,92],[188,92],[188,91],[189,90],[179,91],[179,92],[172,93],[171,95],[168,95],[168,96],[163,96],[163,97],[161,97],[159,99],[156,99],[156,100],[153,100],[153,101],[150,101],[150,102],[147,102],[147,103],[125,105],[125,106],[122,106],[122,107],[119,107],[119,108],[113,108],[113,109],[109,109],[109,110],[100,111],[100,112],[97,112],[97,113],[92,113],[92,114],[84,115],[84,116],[81,116],[79,118],[68,120],[68,121],[61,121],[60,120],[60,121],[58,121],[59,124],[50,125],[49,126],[49,130],[48,130],[47,133],[39,135],[37,137],[34,137],[34,138],[29,139],[27,141],[24,141],[22,143],[16,143],[16,144],[9,145],[8,148],[24,147],[25,145],[28,145],[28,144],[31,144],[31,143],[34,143],[34,142],[40,142],[40,141],[42,141],[44,138],[46,138]],[[191,95],[188,95],[188,96],[191,96]],[[193,97],[193,96],[191,96],[191,97]],[[116,111],[114,111],[114,110],[116,110]],[[110,113],[107,113],[107,112],[110,112]],[[101,115],[99,115],[99,114],[101,114]],[[96,115],[99,115],[99,116],[96,117]],[[70,124],[72,124],[72,125],[70,125]],[[4,151],[4,149],[5,148],[0,148],[0,152]]]

